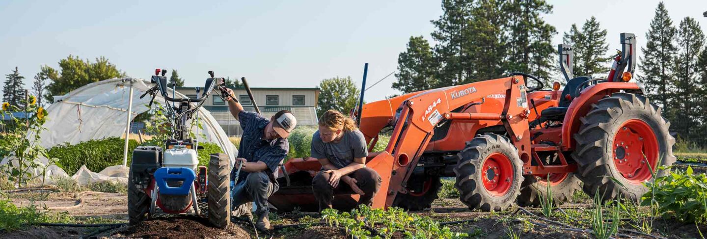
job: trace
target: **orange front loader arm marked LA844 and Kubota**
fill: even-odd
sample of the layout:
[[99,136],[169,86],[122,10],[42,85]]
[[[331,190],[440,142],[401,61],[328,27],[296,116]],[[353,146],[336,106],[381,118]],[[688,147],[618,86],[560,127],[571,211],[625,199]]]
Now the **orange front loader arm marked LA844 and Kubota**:
[[[504,89],[506,103],[502,114],[452,112],[458,107],[479,102],[486,95]],[[401,111],[397,119],[393,119],[395,110],[398,108],[398,105],[393,104],[396,101]],[[407,180],[429,143],[433,129],[443,119],[501,119],[513,143],[518,147],[521,158],[525,161],[530,158],[530,132],[527,124],[529,113],[525,81],[520,76],[438,88],[414,93],[407,99],[393,98],[364,105],[361,113],[361,129],[370,131],[364,133],[367,140],[370,139],[369,137],[377,136],[377,132],[375,136],[371,134],[372,129],[380,126],[378,128],[380,130],[390,119],[395,121],[385,151],[370,159],[367,164],[382,177],[380,192],[373,199],[373,206],[376,208],[391,206],[398,192],[407,193],[405,189]],[[469,132],[469,134],[473,133]]]

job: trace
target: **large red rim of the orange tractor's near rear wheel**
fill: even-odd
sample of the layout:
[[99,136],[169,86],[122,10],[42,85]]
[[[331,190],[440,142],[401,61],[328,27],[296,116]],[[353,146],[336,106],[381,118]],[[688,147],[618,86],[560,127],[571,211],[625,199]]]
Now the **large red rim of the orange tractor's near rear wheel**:
[[658,139],[643,120],[629,119],[621,124],[612,148],[614,166],[626,181],[640,185],[653,178],[650,169],[655,170],[658,162]]

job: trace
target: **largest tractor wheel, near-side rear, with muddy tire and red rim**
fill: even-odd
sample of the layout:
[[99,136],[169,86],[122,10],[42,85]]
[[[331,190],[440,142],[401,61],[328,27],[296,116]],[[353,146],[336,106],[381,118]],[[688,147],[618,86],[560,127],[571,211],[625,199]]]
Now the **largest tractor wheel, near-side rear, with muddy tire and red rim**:
[[650,170],[655,177],[668,173],[658,166],[675,162],[675,139],[660,111],[643,95],[614,93],[580,118],[583,124],[574,135],[577,144],[572,156],[585,193],[599,192],[602,200],[622,197],[638,202],[648,191],[641,183],[654,180]]

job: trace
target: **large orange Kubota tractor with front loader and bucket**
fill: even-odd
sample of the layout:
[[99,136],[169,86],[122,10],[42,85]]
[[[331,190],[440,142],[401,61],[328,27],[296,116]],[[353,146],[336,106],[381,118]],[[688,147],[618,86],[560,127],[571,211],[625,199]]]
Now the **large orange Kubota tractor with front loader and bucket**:
[[[562,91],[557,82],[546,91],[534,76],[511,74],[363,105],[358,115],[369,149],[390,135],[385,151],[366,160],[382,177],[373,207],[430,207],[440,177],[455,177],[461,201],[484,211],[516,199],[537,205],[547,184],[556,202],[571,200],[580,182],[602,199],[640,199],[647,191],[641,183],[674,163],[674,138],[660,107],[631,81],[635,36],[622,33],[621,45],[607,78],[574,77],[571,46],[559,45]],[[315,158],[291,159],[269,202],[280,211],[317,210],[311,181],[320,168]],[[357,199],[336,195],[333,206],[350,209]]]

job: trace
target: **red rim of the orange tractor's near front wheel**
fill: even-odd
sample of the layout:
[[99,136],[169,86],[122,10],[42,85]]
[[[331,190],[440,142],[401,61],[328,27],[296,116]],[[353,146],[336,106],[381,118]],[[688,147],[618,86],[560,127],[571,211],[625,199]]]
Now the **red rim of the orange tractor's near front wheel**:
[[513,182],[513,163],[503,153],[491,153],[481,166],[481,180],[484,189],[495,197],[501,197],[510,190]]

